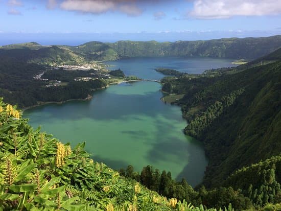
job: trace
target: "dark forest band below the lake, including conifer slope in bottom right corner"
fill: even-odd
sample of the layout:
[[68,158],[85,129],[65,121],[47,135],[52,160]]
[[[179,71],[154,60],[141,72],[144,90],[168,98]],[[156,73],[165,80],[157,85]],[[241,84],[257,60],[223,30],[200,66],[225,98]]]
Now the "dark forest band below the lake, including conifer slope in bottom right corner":
[[281,203],[281,154],[243,167],[221,186],[208,190],[204,185],[193,189],[185,179],[176,181],[170,172],[160,173],[151,166],[138,173],[129,165],[126,170],[120,170],[120,175],[134,179],[162,196],[190,201],[196,206],[203,204],[218,208],[231,203],[233,208],[245,210]]

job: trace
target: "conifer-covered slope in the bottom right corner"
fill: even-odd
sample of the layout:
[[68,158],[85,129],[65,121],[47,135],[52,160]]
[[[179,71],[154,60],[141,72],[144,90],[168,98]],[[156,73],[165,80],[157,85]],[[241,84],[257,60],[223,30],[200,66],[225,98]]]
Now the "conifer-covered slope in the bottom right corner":
[[243,190],[255,205],[281,201],[281,154],[242,168],[230,175],[225,186]]

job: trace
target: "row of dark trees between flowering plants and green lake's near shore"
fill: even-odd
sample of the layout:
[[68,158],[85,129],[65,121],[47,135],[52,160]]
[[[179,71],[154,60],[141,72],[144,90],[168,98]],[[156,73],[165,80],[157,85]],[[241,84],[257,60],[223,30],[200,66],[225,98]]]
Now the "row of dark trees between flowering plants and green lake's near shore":
[[[186,200],[195,206],[203,204],[206,207],[219,208],[231,203],[232,207],[238,210],[254,207],[251,200],[244,197],[242,191],[235,191],[231,186],[221,186],[210,191],[207,191],[204,186],[200,186],[196,191],[185,179],[176,181],[172,179],[171,172],[162,171],[160,173],[158,169],[151,166],[144,167],[139,174],[134,172],[133,167],[129,165],[126,170],[120,170],[120,175],[134,179],[162,196],[177,198],[181,201]],[[281,193],[281,191],[277,193]],[[274,201],[271,203],[274,203]]]

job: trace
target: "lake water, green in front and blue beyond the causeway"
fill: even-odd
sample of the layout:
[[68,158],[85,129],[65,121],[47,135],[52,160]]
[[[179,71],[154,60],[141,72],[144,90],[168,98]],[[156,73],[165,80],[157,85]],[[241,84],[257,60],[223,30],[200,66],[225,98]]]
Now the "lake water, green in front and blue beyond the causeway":
[[[152,58],[136,58],[107,64],[120,67],[126,75],[159,79],[163,75],[153,68],[173,63],[182,71],[180,62],[185,65],[184,59],[178,58],[155,58],[154,62]],[[204,65],[207,63],[208,59]],[[219,67],[231,65],[228,60],[215,63]],[[202,72],[201,68],[198,72]],[[183,134],[186,121],[180,107],[161,102],[160,88],[159,83],[148,81],[111,85],[96,91],[90,101],[46,104],[26,110],[24,117],[30,118],[34,128],[41,125],[43,131],[73,147],[85,141],[92,158],[113,169],[133,165],[141,171],[151,165],[160,171],[171,171],[173,178],[185,178],[195,186],[202,181],[207,165],[203,146]]]

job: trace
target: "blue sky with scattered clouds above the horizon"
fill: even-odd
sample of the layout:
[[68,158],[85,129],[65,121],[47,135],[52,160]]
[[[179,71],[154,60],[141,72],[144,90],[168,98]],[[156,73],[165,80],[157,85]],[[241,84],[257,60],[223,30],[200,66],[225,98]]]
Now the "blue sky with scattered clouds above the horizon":
[[281,34],[281,0],[0,0],[0,19],[0,44],[36,34],[61,41],[75,33],[101,41],[259,37]]

